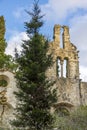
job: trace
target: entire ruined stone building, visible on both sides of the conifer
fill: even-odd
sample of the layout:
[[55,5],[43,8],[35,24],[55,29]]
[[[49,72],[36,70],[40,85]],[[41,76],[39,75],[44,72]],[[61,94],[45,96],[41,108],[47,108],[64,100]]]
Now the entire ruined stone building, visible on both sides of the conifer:
[[[62,32],[62,35],[61,35]],[[62,41],[62,42],[61,42]],[[49,52],[53,53],[54,64],[48,69],[47,75],[56,80],[53,87],[57,89],[58,102],[55,108],[62,107],[69,110],[80,105],[87,105],[87,83],[81,82],[79,77],[78,50],[70,42],[67,26],[54,26],[53,41],[49,44]],[[0,70],[0,126],[9,124],[15,108],[13,91],[16,89],[14,74],[8,70]]]

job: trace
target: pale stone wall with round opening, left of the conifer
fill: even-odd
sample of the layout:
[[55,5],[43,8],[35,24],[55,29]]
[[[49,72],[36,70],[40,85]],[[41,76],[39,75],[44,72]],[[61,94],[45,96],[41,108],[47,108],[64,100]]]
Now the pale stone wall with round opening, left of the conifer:
[[9,121],[13,118],[13,111],[16,105],[16,99],[13,94],[16,91],[16,81],[14,74],[9,71],[0,71],[0,82],[7,82],[6,86],[0,86],[0,126],[7,128]]

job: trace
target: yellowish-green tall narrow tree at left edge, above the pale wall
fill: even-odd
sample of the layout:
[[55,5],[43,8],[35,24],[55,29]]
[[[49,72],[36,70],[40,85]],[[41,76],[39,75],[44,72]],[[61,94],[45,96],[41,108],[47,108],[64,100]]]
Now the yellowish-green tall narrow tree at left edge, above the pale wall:
[[0,16],[0,69],[10,69],[13,71],[15,64],[12,57],[5,54],[7,43],[4,38],[5,35],[5,21],[4,17]]

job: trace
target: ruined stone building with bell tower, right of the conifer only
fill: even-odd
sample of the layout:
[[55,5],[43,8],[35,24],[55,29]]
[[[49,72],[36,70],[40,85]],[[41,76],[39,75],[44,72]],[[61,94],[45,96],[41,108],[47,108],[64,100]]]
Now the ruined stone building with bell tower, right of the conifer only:
[[[62,32],[62,34],[61,34]],[[53,41],[50,43],[54,64],[48,77],[56,80],[58,103],[56,107],[73,108],[87,105],[87,83],[81,82],[78,50],[70,41],[67,26],[54,26]]]

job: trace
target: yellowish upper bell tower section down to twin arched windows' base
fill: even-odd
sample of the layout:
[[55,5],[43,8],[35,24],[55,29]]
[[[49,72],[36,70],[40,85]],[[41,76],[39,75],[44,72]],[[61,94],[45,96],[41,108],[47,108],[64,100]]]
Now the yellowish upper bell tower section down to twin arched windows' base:
[[[60,47],[60,32],[62,33],[62,48]],[[76,46],[70,42],[69,28],[67,26],[54,26],[54,41],[53,41],[54,55],[58,65],[57,76],[67,77],[72,79],[79,78],[79,60]],[[64,62],[66,68],[64,70]],[[65,71],[65,72],[64,72]],[[58,73],[61,73],[60,75]],[[66,73],[64,75],[64,73]]]

